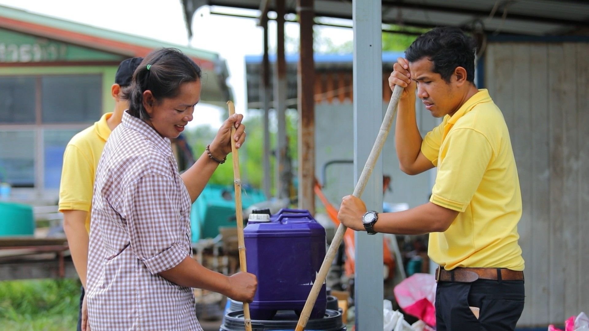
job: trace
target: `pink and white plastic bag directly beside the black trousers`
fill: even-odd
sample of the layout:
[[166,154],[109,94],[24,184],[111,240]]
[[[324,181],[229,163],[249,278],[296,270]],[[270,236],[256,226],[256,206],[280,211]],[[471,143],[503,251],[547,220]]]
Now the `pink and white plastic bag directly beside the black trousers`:
[[423,320],[429,326],[436,325],[436,280],[434,275],[416,273],[403,280],[393,290],[395,299],[404,312]]

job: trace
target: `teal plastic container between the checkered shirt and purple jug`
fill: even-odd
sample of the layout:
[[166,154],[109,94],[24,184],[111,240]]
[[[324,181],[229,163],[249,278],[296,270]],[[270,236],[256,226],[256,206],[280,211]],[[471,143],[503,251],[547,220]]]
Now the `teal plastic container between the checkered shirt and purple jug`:
[[[241,206],[247,208],[266,200],[262,190],[245,188],[241,192]],[[192,241],[214,238],[219,227],[237,227],[235,219],[235,188],[208,184],[190,210]]]

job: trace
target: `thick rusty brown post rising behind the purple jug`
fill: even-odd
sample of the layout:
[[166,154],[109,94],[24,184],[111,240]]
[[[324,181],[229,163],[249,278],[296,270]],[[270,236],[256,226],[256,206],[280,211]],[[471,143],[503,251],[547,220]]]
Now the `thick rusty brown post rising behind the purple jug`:
[[297,0],[300,51],[297,65],[299,105],[299,208],[315,214],[315,61],[313,61],[314,0]]

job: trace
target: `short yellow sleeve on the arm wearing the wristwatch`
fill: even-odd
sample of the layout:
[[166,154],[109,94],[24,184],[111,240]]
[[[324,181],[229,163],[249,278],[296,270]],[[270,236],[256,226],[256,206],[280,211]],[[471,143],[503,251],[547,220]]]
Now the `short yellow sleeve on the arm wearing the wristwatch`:
[[470,128],[452,130],[441,148],[443,160],[438,164],[429,201],[463,212],[481,184],[494,151],[485,135]]

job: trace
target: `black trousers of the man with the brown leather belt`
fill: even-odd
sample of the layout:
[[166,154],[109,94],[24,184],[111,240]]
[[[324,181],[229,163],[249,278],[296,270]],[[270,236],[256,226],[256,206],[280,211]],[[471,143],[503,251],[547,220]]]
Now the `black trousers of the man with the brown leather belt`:
[[[470,307],[478,307],[479,318]],[[436,331],[513,331],[524,310],[524,281],[439,282]]]

